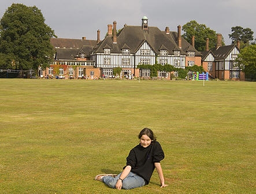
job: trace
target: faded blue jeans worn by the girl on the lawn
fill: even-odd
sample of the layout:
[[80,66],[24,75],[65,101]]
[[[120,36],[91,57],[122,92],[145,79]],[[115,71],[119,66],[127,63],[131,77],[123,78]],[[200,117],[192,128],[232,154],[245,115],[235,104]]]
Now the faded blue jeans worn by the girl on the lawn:
[[[102,181],[109,186],[110,188],[116,188],[117,179],[121,176],[121,173],[118,174],[115,178],[110,176],[105,176],[102,178]],[[133,189],[137,187],[142,187],[146,183],[144,179],[137,174],[130,172],[127,177],[124,178],[122,189]]]

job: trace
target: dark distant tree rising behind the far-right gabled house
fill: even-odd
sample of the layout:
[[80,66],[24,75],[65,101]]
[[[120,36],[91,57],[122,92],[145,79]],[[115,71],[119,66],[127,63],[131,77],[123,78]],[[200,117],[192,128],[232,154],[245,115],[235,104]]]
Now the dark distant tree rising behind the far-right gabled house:
[[242,28],[241,26],[235,26],[231,28],[231,34],[229,38],[232,40],[232,44],[236,41],[242,41],[242,44],[249,45],[250,41],[253,41],[253,31],[250,28]]

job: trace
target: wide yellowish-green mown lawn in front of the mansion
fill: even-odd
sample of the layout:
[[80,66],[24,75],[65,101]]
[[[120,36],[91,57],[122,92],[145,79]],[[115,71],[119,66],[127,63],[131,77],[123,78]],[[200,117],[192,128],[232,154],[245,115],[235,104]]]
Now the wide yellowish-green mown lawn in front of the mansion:
[[[256,83],[0,79],[0,193],[256,193]],[[142,128],[166,188],[107,188]]]

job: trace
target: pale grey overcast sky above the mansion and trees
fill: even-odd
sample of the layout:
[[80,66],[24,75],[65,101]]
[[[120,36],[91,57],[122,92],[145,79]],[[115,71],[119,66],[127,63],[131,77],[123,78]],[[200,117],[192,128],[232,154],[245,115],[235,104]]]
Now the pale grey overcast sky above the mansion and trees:
[[141,25],[143,16],[162,31],[165,26],[177,31],[178,25],[195,20],[221,33],[226,45],[231,44],[232,26],[251,28],[256,37],[256,0],[1,0],[1,18],[12,3],[38,7],[46,24],[63,38],[97,40],[99,29],[102,40],[107,24],[116,20],[117,29]]

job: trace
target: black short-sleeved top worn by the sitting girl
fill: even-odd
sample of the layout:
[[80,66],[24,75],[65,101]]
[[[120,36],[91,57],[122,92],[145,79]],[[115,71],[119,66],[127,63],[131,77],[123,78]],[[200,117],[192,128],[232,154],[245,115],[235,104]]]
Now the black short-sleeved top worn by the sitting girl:
[[132,173],[144,178],[147,185],[155,169],[154,162],[160,162],[164,157],[165,154],[160,143],[151,142],[147,147],[138,144],[130,151],[127,157],[127,166],[132,167]]

